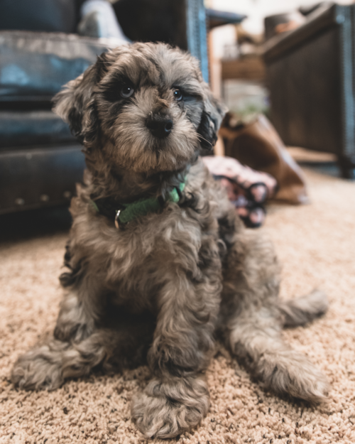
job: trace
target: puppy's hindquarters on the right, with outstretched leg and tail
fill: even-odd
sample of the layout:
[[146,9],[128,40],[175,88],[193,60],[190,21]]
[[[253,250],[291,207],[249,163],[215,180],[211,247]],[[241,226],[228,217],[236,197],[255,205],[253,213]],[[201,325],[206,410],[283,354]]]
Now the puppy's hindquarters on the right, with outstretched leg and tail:
[[289,302],[279,300],[273,248],[248,233],[231,252],[224,278],[220,322],[231,352],[267,389],[312,403],[323,401],[327,395],[325,377],[307,357],[283,341],[281,330],[324,313],[324,295],[315,292]]

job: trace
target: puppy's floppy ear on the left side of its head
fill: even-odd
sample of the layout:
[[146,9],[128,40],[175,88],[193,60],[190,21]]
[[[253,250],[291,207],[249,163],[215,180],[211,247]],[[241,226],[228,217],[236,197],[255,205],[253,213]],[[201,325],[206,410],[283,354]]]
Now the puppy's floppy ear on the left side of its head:
[[70,80],[53,98],[53,111],[69,124],[72,134],[87,146],[94,143],[98,134],[94,88],[107,71],[108,64],[107,53],[99,55],[94,65],[75,80]]

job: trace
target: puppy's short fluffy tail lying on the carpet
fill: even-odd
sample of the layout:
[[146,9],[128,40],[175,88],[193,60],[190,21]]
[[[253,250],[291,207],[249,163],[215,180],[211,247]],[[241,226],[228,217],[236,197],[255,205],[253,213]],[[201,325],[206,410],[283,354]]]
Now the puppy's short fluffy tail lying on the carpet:
[[283,315],[284,327],[297,327],[305,325],[315,318],[324,315],[328,310],[327,295],[320,290],[290,300],[280,300],[278,308]]

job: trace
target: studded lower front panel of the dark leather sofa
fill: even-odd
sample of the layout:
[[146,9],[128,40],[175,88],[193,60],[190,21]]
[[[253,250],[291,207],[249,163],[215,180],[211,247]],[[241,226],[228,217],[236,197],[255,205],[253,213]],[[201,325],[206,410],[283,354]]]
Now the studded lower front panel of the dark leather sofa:
[[84,168],[79,144],[0,151],[0,215],[67,205]]

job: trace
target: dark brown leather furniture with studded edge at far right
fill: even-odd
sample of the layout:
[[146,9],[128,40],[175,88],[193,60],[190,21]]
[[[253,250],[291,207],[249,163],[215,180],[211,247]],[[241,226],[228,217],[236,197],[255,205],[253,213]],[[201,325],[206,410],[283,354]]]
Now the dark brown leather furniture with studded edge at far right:
[[287,145],[337,156],[355,178],[355,5],[327,4],[264,48],[271,119]]

